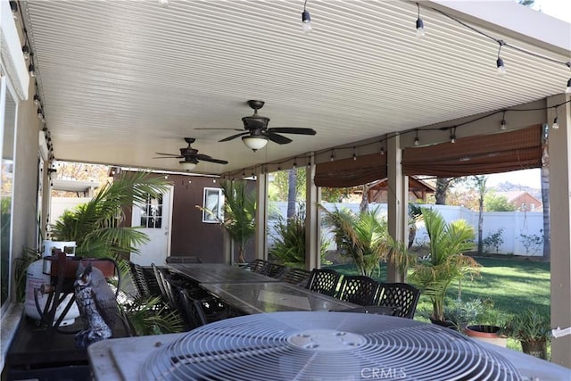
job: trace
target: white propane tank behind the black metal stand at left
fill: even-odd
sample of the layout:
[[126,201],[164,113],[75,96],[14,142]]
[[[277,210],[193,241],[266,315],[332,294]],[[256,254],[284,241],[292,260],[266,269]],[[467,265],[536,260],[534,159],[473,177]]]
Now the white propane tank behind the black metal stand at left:
[[[41,321],[40,312],[37,311],[36,300],[34,294],[37,294],[37,302],[39,304],[40,310],[43,312],[46,306],[48,294],[42,294],[40,289],[42,286],[50,285],[50,272],[49,269],[45,271],[44,257],[52,255],[52,250],[54,248],[61,249],[68,253],[68,255],[75,254],[75,242],[54,242],[54,241],[44,241],[44,252],[42,253],[42,259],[34,261],[29,264],[26,270],[26,301],[24,302],[24,311],[31,319]],[[72,294],[68,294],[63,301],[57,306],[55,310],[54,322],[60,318],[63,309],[70,302]],[[71,305],[70,311],[65,315],[62,320],[61,326],[69,326],[73,324],[76,318],[79,317],[78,306],[75,302]]]

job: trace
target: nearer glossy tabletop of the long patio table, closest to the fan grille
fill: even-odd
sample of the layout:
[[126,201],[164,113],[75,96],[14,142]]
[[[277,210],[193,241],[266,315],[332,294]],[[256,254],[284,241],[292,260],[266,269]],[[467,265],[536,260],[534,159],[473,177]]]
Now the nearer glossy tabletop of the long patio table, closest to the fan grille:
[[284,282],[207,283],[201,287],[246,314],[277,311],[340,311],[357,307],[356,304]]

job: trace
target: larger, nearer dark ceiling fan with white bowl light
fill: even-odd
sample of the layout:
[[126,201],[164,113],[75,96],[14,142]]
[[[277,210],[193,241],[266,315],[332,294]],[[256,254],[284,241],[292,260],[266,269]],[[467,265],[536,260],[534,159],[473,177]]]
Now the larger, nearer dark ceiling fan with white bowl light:
[[286,145],[292,142],[289,137],[284,137],[279,134],[297,134],[297,135],[315,135],[316,132],[312,128],[294,128],[294,127],[275,127],[268,128],[269,118],[261,116],[258,114],[264,102],[257,100],[249,100],[248,105],[253,109],[252,116],[244,116],[242,122],[244,123],[244,129],[237,128],[195,128],[195,129],[229,129],[233,131],[242,131],[239,134],[233,135],[231,137],[225,137],[220,142],[228,142],[229,140],[235,139],[236,137],[242,137],[244,145],[251,148],[252,151],[259,150],[268,144],[268,140],[271,140],[278,145]]

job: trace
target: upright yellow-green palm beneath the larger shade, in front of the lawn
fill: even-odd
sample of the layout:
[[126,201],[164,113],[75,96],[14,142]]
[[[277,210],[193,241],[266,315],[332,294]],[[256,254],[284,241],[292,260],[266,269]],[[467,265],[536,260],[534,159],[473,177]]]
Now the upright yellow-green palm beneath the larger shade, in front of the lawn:
[[475,233],[464,219],[447,223],[438,211],[425,208],[422,216],[430,239],[430,257],[418,261],[410,279],[430,298],[433,304],[431,318],[443,321],[448,286],[478,270],[478,263],[462,254],[474,248]]

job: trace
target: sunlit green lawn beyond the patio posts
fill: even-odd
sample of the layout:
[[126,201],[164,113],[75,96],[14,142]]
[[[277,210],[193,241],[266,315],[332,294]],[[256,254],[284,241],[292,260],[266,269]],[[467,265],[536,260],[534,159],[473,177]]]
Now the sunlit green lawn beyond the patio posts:
[[[480,277],[474,280],[465,278],[461,282],[461,298],[468,301],[474,298],[491,300],[498,311],[514,315],[528,307],[550,311],[550,264],[542,261],[529,261],[516,257],[488,258],[479,257],[476,261],[482,265]],[[353,264],[330,266],[331,269],[346,275],[357,275]],[[385,281],[386,269],[381,267],[380,274],[374,276]],[[448,296],[459,296],[459,283],[449,288]],[[422,294],[418,302],[415,319],[427,321],[432,305]],[[521,351],[520,345],[509,340],[509,348]]]

